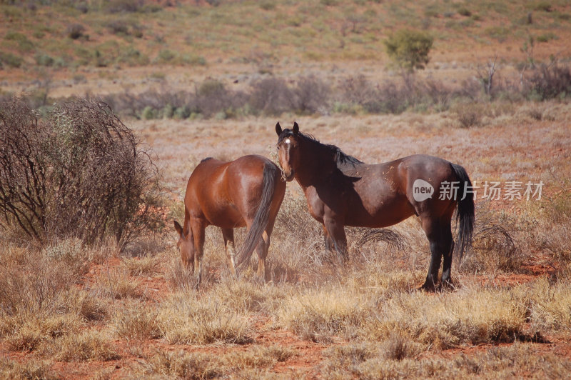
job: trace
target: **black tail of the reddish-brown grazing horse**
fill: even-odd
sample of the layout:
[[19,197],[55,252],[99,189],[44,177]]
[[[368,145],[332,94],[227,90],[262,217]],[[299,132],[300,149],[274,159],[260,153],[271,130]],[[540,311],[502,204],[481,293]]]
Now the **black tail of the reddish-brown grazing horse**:
[[252,252],[260,242],[263,231],[268,225],[268,219],[270,218],[270,206],[273,199],[273,193],[276,189],[276,178],[279,178],[279,175],[276,175],[278,174],[277,171],[278,169],[273,164],[266,163],[263,166],[262,199],[260,201],[260,206],[258,206],[258,211],[256,211],[256,216],[254,216],[254,221],[250,227],[250,231],[248,231],[244,244],[242,244],[242,247],[238,252],[237,266],[241,266],[244,261],[250,259]]

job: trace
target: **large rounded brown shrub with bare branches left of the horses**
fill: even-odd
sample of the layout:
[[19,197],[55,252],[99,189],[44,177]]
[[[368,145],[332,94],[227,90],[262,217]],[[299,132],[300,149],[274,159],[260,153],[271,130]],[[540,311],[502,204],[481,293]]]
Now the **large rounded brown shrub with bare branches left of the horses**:
[[88,244],[158,226],[156,166],[106,104],[77,99],[39,120],[11,99],[0,106],[0,133],[1,224],[37,241]]

